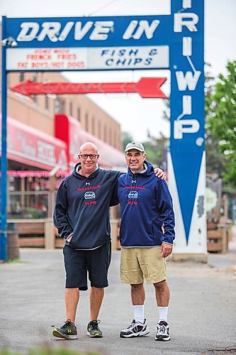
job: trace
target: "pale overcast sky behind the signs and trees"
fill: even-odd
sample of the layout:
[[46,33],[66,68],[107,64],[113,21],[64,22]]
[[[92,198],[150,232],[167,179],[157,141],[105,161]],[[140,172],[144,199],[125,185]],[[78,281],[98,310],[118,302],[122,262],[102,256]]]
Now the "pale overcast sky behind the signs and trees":
[[[0,0],[0,14],[14,17],[113,16],[169,13],[168,0]],[[225,74],[227,60],[236,59],[236,0],[205,0],[205,60],[212,73]],[[137,81],[142,76],[167,76],[168,71],[119,71],[69,73],[74,82]],[[169,94],[169,81],[164,85]],[[147,129],[153,136],[169,136],[162,119],[162,99],[142,99],[138,94],[90,94],[135,140],[145,141]]]

